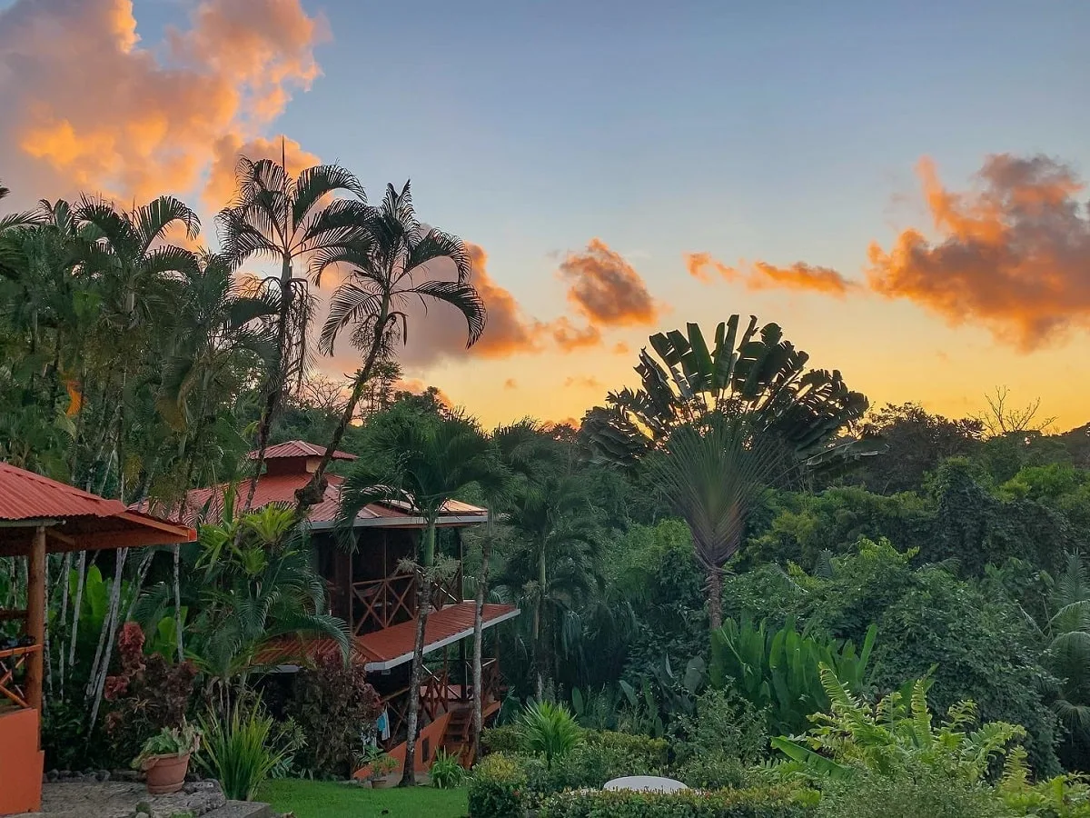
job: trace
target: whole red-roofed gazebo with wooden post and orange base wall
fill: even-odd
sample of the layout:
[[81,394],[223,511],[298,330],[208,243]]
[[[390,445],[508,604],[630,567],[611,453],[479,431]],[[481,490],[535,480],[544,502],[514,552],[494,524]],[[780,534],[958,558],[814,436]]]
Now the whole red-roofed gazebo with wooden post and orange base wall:
[[0,650],[0,816],[41,803],[47,555],[195,539],[186,526],[0,462],[0,556],[27,561],[26,609],[0,609],[0,622],[21,621],[24,634]]

